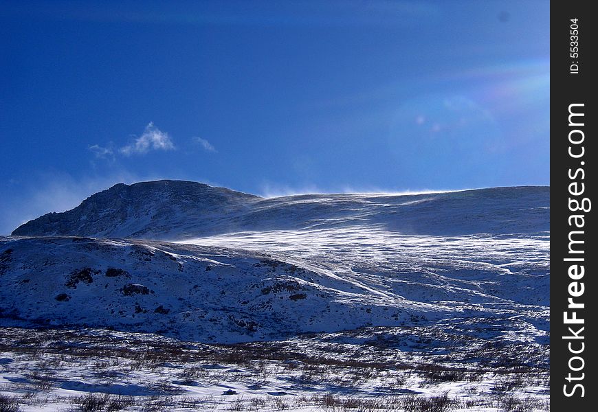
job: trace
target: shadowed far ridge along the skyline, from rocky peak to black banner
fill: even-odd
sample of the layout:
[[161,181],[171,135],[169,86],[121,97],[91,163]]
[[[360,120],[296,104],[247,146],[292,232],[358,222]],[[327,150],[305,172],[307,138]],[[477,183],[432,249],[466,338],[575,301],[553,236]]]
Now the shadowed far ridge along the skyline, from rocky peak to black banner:
[[412,235],[542,233],[549,187],[417,195],[310,194],[260,198],[186,181],[118,184],[78,207],[31,220],[13,236],[185,240],[242,231],[379,227]]

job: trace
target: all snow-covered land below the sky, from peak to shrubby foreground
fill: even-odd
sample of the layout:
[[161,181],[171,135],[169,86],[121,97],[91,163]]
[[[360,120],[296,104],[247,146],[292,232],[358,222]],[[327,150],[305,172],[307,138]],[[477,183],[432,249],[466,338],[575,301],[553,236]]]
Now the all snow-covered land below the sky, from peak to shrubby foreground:
[[[261,199],[185,183],[177,211],[209,195],[208,212],[170,215],[177,183],[157,183],[19,229],[63,236],[0,238],[0,405],[549,410],[546,188]],[[162,203],[131,205],[135,190]]]

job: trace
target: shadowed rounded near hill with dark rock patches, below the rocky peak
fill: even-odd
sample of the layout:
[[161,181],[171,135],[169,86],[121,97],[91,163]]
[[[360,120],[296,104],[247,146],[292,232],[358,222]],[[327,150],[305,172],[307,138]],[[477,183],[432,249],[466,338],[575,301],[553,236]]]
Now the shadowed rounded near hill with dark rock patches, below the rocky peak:
[[406,308],[419,314],[414,302],[263,253],[64,237],[0,245],[1,316],[15,321],[222,343],[396,325]]

